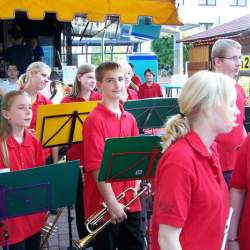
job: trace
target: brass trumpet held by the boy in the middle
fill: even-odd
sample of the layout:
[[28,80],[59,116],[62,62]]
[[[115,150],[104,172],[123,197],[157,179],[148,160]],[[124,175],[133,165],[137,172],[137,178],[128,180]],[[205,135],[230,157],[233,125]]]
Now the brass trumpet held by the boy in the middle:
[[[144,194],[146,191],[149,190],[149,186],[145,185],[142,187],[141,190],[137,193],[135,188],[127,188],[125,191],[120,193],[116,199],[117,201],[123,199],[126,195],[127,192],[133,192],[136,193],[136,196],[134,196],[126,205],[125,209],[128,208],[131,204],[133,204],[136,199],[138,199],[142,194]],[[103,222],[103,224],[98,224],[103,221],[105,215],[108,213],[108,207],[106,204],[104,204],[104,208],[100,210],[97,213],[94,213],[91,215],[86,221],[85,221],[85,226],[89,232],[87,236],[85,236],[83,239],[80,240],[73,240],[73,244],[77,249],[85,249],[87,245],[104,229],[106,228],[110,223],[111,223],[111,218]],[[92,230],[92,228],[95,228]]]

